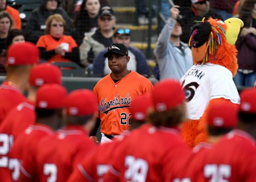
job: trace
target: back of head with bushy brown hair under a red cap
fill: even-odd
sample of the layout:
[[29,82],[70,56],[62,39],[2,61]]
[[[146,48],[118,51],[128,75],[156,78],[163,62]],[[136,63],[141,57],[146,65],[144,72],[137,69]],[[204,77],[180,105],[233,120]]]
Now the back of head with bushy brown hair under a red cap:
[[154,112],[149,114],[149,122],[154,126],[176,126],[185,117],[185,93],[176,80],[158,82],[152,92]]

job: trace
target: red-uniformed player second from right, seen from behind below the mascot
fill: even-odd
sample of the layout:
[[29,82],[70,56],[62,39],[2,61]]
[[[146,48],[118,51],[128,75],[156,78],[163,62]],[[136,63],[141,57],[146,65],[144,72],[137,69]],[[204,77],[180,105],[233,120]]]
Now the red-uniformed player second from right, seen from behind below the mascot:
[[237,126],[238,106],[228,102],[219,102],[209,107],[208,114],[208,143],[197,144],[190,156],[180,161],[181,168],[176,174],[170,174],[169,181],[199,181],[198,173],[204,166],[209,150],[218,143],[220,139]]

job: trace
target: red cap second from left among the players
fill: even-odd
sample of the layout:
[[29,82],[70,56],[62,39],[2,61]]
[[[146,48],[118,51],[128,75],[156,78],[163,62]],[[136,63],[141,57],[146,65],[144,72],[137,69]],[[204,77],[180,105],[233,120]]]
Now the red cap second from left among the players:
[[62,73],[58,66],[43,63],[38,64],[30,71],[29,83],[33,86],[44,84],[61,84]]

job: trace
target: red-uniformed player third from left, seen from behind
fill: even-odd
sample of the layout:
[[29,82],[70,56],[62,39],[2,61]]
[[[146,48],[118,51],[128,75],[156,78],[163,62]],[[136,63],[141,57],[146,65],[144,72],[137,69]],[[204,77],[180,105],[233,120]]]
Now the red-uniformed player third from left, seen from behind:
[[[62,126],[62,112],[66,95],[66,88],[59,84],[45,84],[38,89],[35,104],[36,122],[28,126],[16,138],[10,151],[9,168],[14,169],[13,178],[15,180],[20,175],[19,181],[29,181],[32,178],[36,169],[36,146],[40,139],[52,135],[54,130]],[[20,173],[20,169],[22,173]],[[34,180],[32,179],[32,181]]]

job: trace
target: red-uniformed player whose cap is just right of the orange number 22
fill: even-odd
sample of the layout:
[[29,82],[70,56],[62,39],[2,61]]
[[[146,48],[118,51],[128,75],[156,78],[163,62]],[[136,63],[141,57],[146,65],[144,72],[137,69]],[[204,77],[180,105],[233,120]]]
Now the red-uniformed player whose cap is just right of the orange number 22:
[[[134,131],[134,128],[144,124],[146,112],[151,106],[152,100],[148,95],[138,96],[134,99],[130,108],[132,114],[130,130]],[[113,159],[113,152],[122,143],[124,138],[130,136],[130,130],[121,133],[113,142],[102,144],[94,152],[86,156],[70,175],[68,182],[102,181],[102,176],[108,171],[108,164]]]

